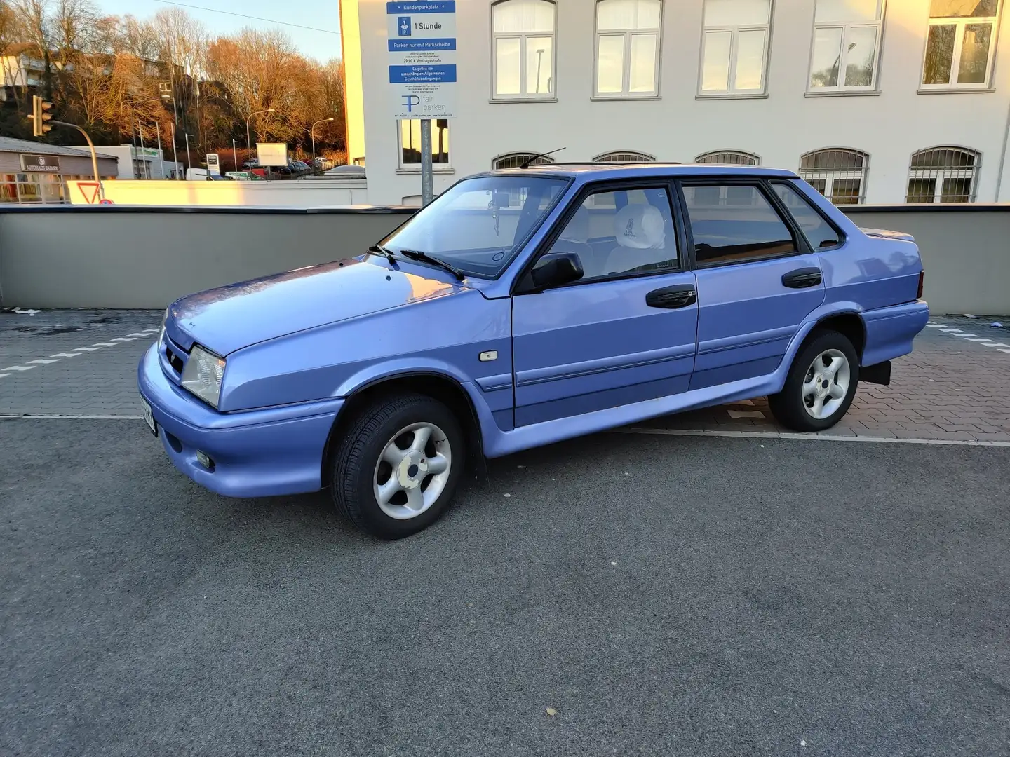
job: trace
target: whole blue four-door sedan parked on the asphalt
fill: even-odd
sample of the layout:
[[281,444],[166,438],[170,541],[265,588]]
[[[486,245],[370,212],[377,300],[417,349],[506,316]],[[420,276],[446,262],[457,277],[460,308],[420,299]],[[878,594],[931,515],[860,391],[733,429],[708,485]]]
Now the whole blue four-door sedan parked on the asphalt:
[[174,303],[139,390],[197,482],[328,488],[385,538],[484,457],[765,395],[829,428],[928,317],[910,236],[772,169],[498,171],[346,252]]

